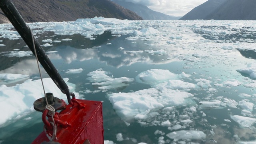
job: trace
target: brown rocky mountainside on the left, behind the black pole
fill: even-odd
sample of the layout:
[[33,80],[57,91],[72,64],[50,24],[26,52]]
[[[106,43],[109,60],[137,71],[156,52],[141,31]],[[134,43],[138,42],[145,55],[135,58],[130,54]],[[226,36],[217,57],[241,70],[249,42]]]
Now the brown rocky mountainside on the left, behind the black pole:
[[[78,18],[142,20],[135,12],[110,0],[11,0],[25,22],[75,21]],[[10,23],[0,10],[0,23]]]

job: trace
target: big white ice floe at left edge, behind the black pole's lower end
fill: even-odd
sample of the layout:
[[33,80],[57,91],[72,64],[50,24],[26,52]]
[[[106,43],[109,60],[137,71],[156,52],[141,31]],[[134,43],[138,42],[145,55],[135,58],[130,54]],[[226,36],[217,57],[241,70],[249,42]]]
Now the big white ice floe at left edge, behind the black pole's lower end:
[[[8,80],[16,79],[17,76],[12,76]],[[75,85],[68,83],[68,78],[64,78],[68,84],[70,91],[74,91]],[[52,81],[51,78],[44,78],[44,88],[46,92],[51,92],[55,97],[66,100],[66,95],[62,94],[60,89]],[[76,97],[79,98],[77,93]],[[22,84],[7,87],[6,85],[0,86],[0,109],[8,109],[3,111],[0,118],[0,127],[11,124],[16,119],[20,119],[32,112],[34,112],[33,103],[38,98],[44,97],[41,80],[28,79]]]

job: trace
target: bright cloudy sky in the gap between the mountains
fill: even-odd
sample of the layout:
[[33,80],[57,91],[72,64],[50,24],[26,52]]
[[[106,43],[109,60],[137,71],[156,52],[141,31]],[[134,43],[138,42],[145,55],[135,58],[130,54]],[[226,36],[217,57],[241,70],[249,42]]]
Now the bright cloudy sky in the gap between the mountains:
[[172,16],[184,16],[190,10],[207,0],[126,0],[136,4],[143,4],[148,8]]

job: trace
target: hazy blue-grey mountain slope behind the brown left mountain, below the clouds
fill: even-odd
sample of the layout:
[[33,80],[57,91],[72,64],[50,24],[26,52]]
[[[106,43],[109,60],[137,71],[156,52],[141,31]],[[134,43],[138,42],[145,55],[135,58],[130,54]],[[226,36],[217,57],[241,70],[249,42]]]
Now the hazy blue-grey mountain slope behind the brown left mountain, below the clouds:
[[180,18],[176,16],[169,16],[161,12],[156,12],[142,4],[134,4],[132,2],[126,2],[124,0],[112,0],[112,1],[115,2],[116,4],[119,4],[120,6],[123,6],[124,8],[132,10],[133,12],[141,16],[143,20],[178,20]]

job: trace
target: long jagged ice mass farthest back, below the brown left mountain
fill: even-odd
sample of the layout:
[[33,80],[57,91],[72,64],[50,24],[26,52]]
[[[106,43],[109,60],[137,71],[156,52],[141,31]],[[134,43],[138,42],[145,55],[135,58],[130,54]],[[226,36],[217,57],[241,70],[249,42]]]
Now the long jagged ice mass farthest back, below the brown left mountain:
[[137,29],[136,26],[131,26],[135,23],[129,20],[119,20],[116,18],[85,18],[77,19],[74,22],[56,22],[52,27],[44,28],[45,31],[53,31],[56,34],[72,35],[81,34],[86,38],[94,39],[96,34],[103,34],[105,30],[112,30],[112,34],[120,34],[120,29],[125,29],[124,34],[132,33],[132,30]]

